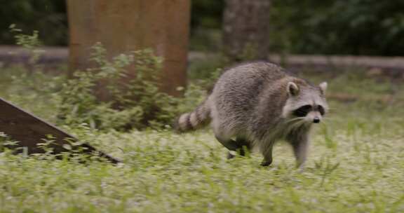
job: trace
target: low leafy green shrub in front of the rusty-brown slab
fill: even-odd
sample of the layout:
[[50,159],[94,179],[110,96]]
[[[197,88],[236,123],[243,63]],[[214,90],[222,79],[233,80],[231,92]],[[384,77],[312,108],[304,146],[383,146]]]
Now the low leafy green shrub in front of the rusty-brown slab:
[[[162,128],[176,116],[178,99],[159,90],[163,60],[152,50],[108,60],[105,48],[97,43],[90,60],[95,68],[76,71],[62,86],[60,123],[88,123],[100,130]],[[129,66],[135,66],[136,75],[127,80]]]

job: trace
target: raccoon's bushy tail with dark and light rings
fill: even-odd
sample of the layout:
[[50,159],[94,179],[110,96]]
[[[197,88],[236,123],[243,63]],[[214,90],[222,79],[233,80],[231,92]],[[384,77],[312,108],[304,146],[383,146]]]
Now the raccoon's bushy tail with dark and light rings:
[[182,114],[175,120],[174,129],[177,132],[190,132],[210,123],[210,106],[208,99],[192,112]]

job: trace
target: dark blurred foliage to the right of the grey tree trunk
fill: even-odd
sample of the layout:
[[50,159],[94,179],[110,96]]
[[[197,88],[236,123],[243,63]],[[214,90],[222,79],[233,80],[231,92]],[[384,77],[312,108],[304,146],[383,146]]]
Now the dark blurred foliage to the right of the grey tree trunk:
[[404,1],[273,1],[274,50],[404,55]]

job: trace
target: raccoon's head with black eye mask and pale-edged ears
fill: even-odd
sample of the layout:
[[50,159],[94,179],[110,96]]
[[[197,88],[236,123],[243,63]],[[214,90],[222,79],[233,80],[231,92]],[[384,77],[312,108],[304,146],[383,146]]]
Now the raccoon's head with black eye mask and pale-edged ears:
[[325,90],[327,90],[326,82],[318,86],[299,81],[288,82],[288,100],[283,107],[283,118],[320,123],[328,111]]

